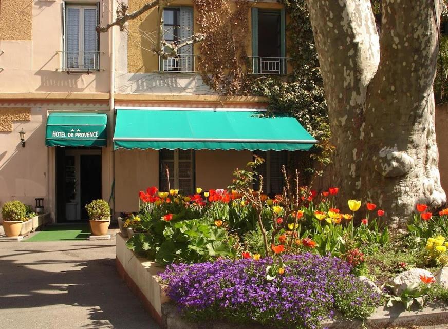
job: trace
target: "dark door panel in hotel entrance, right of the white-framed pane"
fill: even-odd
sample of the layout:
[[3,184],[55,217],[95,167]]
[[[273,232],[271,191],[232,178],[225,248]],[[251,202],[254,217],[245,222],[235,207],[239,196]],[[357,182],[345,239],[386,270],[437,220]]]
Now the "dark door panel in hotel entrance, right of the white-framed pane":
[[101,199],[101,156],[80,156],[80,206],[81,220],[88,219],[85,205],[96,199]]

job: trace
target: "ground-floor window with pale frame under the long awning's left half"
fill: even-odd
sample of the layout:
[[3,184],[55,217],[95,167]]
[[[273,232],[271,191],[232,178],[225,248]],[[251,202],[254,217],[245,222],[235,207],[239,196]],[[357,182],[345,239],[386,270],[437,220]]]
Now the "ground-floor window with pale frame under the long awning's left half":
[[193,193],[194,188],[194,151],[167,150],[159,151],[159,188],[169,190],[166,168],[170,174],[170,187],[184,193]]

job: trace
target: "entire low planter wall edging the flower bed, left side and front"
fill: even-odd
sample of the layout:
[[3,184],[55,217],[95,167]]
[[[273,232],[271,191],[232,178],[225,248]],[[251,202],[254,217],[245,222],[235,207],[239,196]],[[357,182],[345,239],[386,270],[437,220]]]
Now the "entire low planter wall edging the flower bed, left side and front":
[[[247,329],[247,325],[235,325],[224,321],[208,323],[190,323],[184,320],[175,305],[169,302],[159,283],[158,273],[163,271],[155,262],[135,256],[126,247],[127,239],[116,235],[117,270],[133,293],[141,300],[154,320],[167,329]],[[330,329],[383,329],[412,325],[443,325],[448,328],[448,306],[434,304],[415,311],[405,311],[404,306],[397,304],[393,308],[380,307],[364,323],[362,321],[328,321],[323,324]],[[365,325],[365,326],[364,326]],[[144,325],[142,325],[143,327]],[[251,329],[269,329],[267,326],[250,325]]]

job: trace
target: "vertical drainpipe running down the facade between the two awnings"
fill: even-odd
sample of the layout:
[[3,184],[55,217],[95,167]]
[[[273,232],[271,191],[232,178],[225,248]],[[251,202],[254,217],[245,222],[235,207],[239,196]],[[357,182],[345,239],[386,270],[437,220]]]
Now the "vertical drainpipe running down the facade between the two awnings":
[[[115,13],[115,6],[116,2],[115,0],[111,1],[112,8],[111,8],[111,20],[114,20],[114,13]],[[110,120],[110,136],[114,136],[115,131],[115,29],[111,28],[110,30],[110,85],[109,85],[109,118]],[[115,152],[114,152],[114,145],[111,145],[111,166],[110,166],[110,173],[109,177],[110,180],[110,195],[113,196],[114,205],[112,207],[112,218],[115,219]]]

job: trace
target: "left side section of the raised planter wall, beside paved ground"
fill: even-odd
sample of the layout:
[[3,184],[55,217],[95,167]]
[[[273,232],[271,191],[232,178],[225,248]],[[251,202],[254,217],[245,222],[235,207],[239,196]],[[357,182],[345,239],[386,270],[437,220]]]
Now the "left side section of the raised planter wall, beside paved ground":
[[127,239],[123,238],[121,233],[117,233],[115,239],[119,275],[141,300],[153,319],[160,326],[166,327],[166,319],[162,317],[162,304],[169,299],[163,294],[163,286],[159,283],[157,275],[164,268],[146,258],[136,256],[126,247]]

